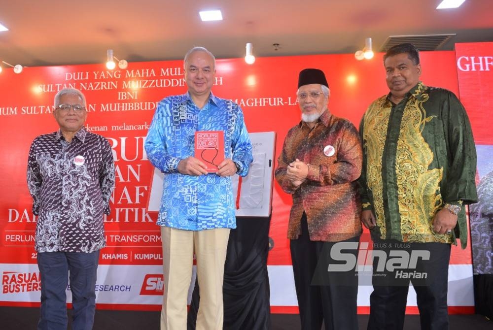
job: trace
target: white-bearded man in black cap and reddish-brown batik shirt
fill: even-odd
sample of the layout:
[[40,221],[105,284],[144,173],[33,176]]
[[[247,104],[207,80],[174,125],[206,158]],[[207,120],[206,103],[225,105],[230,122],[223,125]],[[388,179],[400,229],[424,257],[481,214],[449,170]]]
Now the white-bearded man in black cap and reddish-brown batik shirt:
[[[327,108],[324,73],[300,72],[301,122],[286,135],[276,180],[293,196],[288,238],[302,329],[357,330],[358,278],[330,271],[332,249],[349,247],[356,260],[361,203],[355,180],[361,173],[361,144],[351,122]],[[314,281],[312,283],[312,280]],[[319,284],[319,285],[318,285]]]

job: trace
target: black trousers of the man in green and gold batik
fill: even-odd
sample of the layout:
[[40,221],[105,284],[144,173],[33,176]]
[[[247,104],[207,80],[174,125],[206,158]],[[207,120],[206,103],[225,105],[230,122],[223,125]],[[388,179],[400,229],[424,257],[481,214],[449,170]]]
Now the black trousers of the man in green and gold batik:
[[[387,263],[379,265],[380,259],[375,257],[373,259],[373,293],[370,296],[368,330],[403,329],[410,282],[416,291],[421,329],[448,330],[447,290],[450,244],[376,240],[373,245],[374,256],[375,253],[383,252],[387,255]],[[426,256],[427,251],[429,260],[419,257]],[[409,256],[409,267],[388,269],[391,268],[389,267],[391,256]],[[399,263],[396,265],[400,267]]]

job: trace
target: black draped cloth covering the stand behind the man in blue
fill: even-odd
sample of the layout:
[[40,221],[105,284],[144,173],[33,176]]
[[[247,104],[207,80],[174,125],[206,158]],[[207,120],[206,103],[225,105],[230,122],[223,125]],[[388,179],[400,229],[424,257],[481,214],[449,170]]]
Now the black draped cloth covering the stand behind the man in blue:
[[[224,265],[225,330],[270,329],[270,290],[267,274],[271,217],[236,218],[231,230]],[[195,281],[187,330],[195,330],[199,308],[199,285]]]

